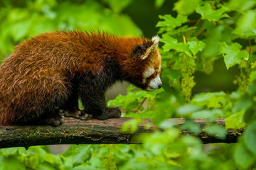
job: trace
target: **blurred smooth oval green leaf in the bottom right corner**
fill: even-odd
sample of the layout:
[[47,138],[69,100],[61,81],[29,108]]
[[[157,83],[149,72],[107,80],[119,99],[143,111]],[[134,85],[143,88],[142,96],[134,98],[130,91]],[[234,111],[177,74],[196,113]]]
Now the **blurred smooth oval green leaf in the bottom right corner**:
[[[255,145],[255,143],[253,144]],[[255,157],[246,149],[242,143],[239,143],[234,153],[235,163],[242,169],[247,169],[255,161]]]

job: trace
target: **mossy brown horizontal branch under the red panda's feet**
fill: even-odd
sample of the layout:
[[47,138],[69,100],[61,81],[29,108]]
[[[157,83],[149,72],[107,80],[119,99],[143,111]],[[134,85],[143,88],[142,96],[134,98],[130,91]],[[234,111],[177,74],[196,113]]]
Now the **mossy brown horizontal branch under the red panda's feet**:
[[[120,132],[122,124],[131,118],[117,118],[109,120],[78,120],[65,118],[63,125],[51,126],[1,126],[0,127],[0,148],[4,147],[30,147],[33,145],[60,145],[60,144],[139,144],[134,140],[139,134],[151,133],[157,130],[156,125],[149,118],[144,118],[139,124],[137,132]],[[184,119],[170,119],[177,123],[177,127],[184,123]],[[194,119],[203,130],[210,125],[205,119]],[[224,119],[218,119],[217,124],[225,127]],[[145,128],[149,127],[150,128]],[[202,132],[198,137],[204,143],[236,142],[242,130],[227,130],[225,140],[220,140]],[[185,134],[191,134],[182,130]],[[191,134],[193,135],[193,134]]]

